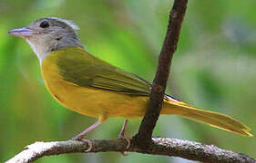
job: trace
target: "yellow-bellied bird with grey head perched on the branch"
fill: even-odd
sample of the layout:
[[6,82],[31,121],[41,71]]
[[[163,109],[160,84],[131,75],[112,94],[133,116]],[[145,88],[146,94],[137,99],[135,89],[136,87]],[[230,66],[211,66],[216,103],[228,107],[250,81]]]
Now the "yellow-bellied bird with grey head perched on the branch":
[[[43,17],[26,27],[8,31],[26,39],[40,62],[50,94],[69,110],[97,118],[97,122],[73,139],[85,140],[92,129],[108,120],[123,118],[119,138],[125,137],[128,120],[142,118],[148,107],[152,84],[88,53],[77,36],[78,26],[57,17]],[[160,114],[179,115],[243,136],[250,128],[230,116],[201,110],[165,95]]]

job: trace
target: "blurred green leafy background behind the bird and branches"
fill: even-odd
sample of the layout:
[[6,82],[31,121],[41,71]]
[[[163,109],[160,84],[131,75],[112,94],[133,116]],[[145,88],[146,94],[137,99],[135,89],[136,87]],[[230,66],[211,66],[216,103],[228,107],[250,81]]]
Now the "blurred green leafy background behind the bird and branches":
[[[60,106],[46,91],[39,62],[22,39],[7,35],[43,16],[73,20],[90,53],[152,81],[173,1],[0,0],[0,162],[36,140],[66,140],[96,119]],[[256,132],[256,1],[190,0],[168,93],[189,104],[228,114]],[[109,119],[87,135],[116,139],[123,120]],[[138,130],[131,120],[127,136]],[[161,116],[155,136],[214,144],[256,158],[256,139],[178,116]],[[187,162],[128,153],[68,154],[37,162]],[[192,161],[191,161],[192,162]]]

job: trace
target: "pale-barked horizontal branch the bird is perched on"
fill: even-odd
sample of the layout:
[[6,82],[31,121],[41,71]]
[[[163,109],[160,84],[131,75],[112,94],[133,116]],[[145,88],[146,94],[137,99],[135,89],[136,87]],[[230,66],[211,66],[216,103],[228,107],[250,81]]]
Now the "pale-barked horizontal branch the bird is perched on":
[[[93,149],[91,152],[122,151],[126,148],[124,139],[109,140],[92,140]],[[14,158],[9,159],[6,163],[26,163],[35,161],[37,158],[44,156],[59,155],[66,153],[86,153],[87,144],[82,141],[53,141],[53,142],[36,142],[29,145]],[[198,142],[182,139],[154,138],[148,149],[140,149],[131,140],[131,146],[126,149],[129,152],[146,153],[151,155],[163,155],[199,160],[207,163],[255,163],[256,160],[249,156],[234,153],[230,150],[219,149],[213,145],[204,145]]]

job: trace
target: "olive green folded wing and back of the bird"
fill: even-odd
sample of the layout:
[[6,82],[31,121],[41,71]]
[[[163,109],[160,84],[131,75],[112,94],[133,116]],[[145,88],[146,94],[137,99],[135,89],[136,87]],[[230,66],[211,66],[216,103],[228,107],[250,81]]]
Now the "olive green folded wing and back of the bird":
[[94,57],[81,48],[67,48],[65,52],[59,50],[58,56],[59,73],[67,82],[134,95],[148,96],[150,93],[150,83]]

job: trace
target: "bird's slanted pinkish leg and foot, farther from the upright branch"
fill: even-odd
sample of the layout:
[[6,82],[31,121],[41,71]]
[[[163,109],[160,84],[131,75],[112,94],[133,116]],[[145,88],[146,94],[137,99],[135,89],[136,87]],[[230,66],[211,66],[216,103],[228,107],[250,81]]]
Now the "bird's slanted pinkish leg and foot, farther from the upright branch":
[[90,132],[92,129],[95,129],[98,125],[100,125],[102,122],[100,122],[99,120],[97,120],[96,123],[94,123],[93,125],[91,125],[90,127],[88,127],[87,129],[85,129],[83,132],[79,133],[76,137],[72,138],[74,140],[80,140],[80,141],[84,141],[88,144],[89,148],[86,150],[86,152],[90,151],[92,149],[92,142],[91,140],[88,139],[83,139],[88,132]]

